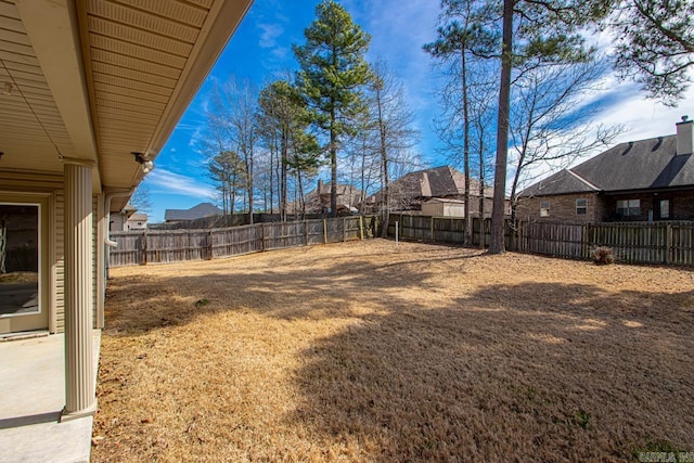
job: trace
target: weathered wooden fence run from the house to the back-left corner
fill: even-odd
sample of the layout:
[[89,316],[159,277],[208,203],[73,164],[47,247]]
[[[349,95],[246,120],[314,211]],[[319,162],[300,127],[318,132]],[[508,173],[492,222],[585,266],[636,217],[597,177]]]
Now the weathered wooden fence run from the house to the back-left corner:
[[297,222],[258,223],[210,230],[112,232],[110,267],[179,262],[260,253],[284,247],[374,237],[374,216],[349,216]]

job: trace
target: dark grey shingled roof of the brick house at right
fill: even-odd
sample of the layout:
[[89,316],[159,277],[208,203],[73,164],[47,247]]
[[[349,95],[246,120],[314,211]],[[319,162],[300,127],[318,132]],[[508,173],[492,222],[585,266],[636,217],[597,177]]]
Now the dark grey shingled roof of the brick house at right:
[[694,187],[694,156],[677,154],[677,136],[620,143],[520,192],[549,196]]

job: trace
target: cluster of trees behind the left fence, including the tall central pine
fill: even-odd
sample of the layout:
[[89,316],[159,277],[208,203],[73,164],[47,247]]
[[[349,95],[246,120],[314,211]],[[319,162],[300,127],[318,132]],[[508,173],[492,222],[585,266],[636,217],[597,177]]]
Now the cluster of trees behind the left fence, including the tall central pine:
[[296,73],[259,90],[234,80],[214,90],[203,151],[224,214],[305,214],[308,184],[330,166],[336,216],[339,181],[387,198],[390,178],[417,165],[412,111],[387,63],[367,62],[369,34],[324,1],[305,38],[293,46]]

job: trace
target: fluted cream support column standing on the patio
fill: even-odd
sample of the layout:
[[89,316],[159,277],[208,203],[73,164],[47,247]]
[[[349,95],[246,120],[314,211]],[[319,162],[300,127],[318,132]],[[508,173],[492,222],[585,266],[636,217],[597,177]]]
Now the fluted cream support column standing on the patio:
[[97,411],[92,346],[92,164],[65,162],[65,399],[61,421]]

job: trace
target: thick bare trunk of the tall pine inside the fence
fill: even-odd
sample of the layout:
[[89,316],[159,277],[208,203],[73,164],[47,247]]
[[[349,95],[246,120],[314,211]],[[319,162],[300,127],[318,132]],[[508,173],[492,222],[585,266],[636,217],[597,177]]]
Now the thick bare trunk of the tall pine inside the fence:
[[513,54],[513,0],[503,2],[503,44],[501,81],[499,82],[499,119],[497,123],[497,164],[494,166],[494,200],[491,208],[491,242],[489,254],[505,250],[503,240],[506,163],[509,158],[509,106],[511,100],[511,66]]

